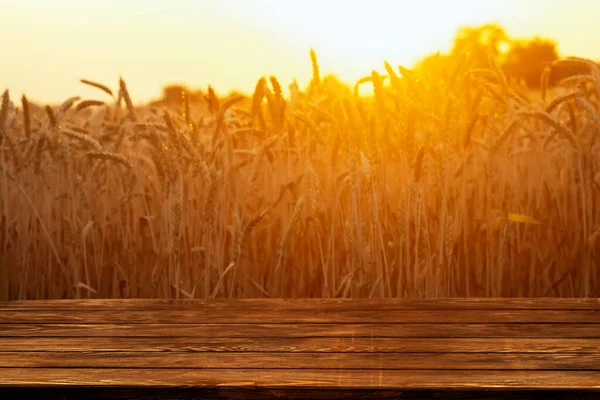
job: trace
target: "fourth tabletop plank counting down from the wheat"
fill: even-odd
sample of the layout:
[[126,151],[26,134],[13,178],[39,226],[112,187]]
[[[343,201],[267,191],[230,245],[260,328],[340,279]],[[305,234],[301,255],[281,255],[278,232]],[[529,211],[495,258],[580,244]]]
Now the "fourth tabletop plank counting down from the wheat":
[[600,339],[3,338],[0,351],[598,353]]

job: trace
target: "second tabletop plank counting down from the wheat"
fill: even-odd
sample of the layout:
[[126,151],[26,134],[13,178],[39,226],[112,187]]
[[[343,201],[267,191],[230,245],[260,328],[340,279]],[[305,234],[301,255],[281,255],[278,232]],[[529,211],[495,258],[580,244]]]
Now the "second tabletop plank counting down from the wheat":
[[6,311],[0,323],[594,323],[600,324],[599,310],[313,310],[244,311],[208,308],[189,310],[76,310]]

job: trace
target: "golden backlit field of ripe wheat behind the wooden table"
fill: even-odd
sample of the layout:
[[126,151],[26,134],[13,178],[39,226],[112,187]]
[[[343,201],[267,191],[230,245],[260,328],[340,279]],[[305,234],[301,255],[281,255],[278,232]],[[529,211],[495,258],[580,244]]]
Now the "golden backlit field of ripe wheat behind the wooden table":
[[[0,111],[0,300],[600,296],[600,70],[466,58],[346,87]],[[360,95],[371,87],[372,95]]]

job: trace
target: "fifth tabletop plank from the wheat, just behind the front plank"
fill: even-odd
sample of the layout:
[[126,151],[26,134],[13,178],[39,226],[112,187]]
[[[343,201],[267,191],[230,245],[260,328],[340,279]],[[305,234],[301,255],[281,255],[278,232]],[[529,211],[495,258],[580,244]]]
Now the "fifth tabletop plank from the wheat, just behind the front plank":
[[0,368],[587,370],[600,351],[560,353],[0,352]]

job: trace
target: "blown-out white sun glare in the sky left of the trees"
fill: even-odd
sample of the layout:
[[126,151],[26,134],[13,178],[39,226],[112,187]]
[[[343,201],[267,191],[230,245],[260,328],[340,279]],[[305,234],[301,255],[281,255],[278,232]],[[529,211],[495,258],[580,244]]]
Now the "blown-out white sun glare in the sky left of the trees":
[[354,81],[383,60],[412,64],[448,50],[464,25],[493,22],[507,4],[486,1],[276,1],[235,2],[245,23],[268,26],[279,40],[314,47],[322,64]]

